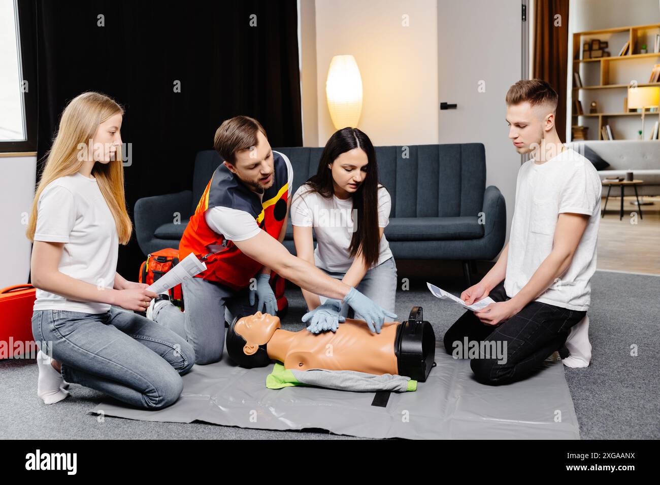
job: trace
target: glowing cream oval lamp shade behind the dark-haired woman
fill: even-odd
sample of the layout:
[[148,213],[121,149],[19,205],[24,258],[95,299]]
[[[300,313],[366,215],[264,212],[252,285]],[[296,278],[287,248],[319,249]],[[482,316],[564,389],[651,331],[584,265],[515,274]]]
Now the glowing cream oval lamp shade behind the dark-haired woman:
[[335,55],[325,81],[325,96],[335,129],[356,127],[362,113],[362,77],[352,55]]

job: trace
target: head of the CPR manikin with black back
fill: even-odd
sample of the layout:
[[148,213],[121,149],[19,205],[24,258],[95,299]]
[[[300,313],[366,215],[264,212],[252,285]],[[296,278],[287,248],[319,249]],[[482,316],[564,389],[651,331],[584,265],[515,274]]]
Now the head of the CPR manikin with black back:
[[257,311],[254,315],[237,317],[229,326],[227,353],[244,368],[263,367],[271,363],[266,345],[277,329],[279,317]]

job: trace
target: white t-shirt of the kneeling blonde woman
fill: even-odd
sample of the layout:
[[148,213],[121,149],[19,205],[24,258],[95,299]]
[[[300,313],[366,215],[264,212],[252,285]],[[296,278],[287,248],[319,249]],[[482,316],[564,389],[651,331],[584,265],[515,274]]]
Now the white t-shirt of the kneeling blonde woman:
[[[65,243],[57,267],[60,273],[100,288],[114,286],[117,226],[96,179],[76,172],[46,185],[37,203],[34,240]],[[110,305],[69,300],[37,289],[34,310],[46,309],[105,313]]]

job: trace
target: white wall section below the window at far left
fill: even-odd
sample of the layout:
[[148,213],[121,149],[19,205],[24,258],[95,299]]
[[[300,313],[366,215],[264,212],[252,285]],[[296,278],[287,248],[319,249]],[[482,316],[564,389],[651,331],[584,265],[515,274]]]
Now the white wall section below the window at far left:
[[0,289],[26,283],[32,243],[25,237],[36,179],[36,156],[0,154]]

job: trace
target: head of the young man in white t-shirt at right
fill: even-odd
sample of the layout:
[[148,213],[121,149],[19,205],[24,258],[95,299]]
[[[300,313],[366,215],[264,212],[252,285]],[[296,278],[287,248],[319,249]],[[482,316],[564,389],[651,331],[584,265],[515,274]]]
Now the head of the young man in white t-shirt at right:
[[548,140],[558,140],[554,125],[558,96],[541,79],[516,82],[506,93],[506,122],[509,138],[519,154],[537,152]]

